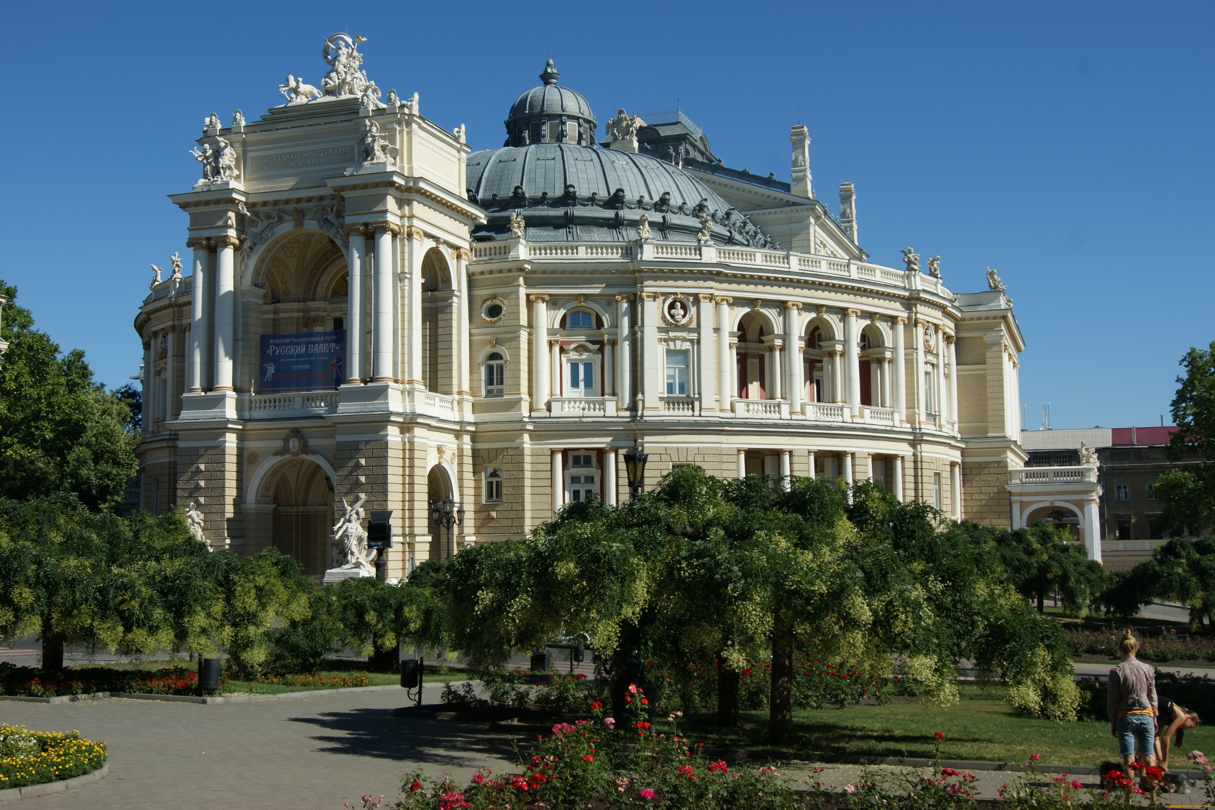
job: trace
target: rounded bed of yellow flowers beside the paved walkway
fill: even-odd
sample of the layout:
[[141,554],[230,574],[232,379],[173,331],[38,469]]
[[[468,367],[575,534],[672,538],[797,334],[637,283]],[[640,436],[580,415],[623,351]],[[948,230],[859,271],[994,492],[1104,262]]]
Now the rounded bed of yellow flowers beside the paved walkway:
[[0,723],[0,791],[83,776],[106,763],[106,743],[79,731],[28,731]]

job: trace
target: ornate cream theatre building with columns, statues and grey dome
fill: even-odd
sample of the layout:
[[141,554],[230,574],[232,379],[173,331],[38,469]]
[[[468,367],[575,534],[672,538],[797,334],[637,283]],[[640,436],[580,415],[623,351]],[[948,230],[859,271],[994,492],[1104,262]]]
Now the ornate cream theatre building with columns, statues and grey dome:
[[[334,506],[366,497],[401,577],[627,498],[639,447],[648,487],[683,464],[871,478],[1012,522],[1012,301],[994,273],[953,291],[910,248],[870,261],[852,185],[838,214],[812,188],[806,128],[789,182],[727,169],[680,113],[620,111],[600,142],[550,61],[504,146],[470,153],[328,43],[320,87],[209,117],[203,177],[170,197],[192,273],[135,321],[147,509],[193,502],[213,546],[321,573]],[[434,520],[448,499],[459,526]]]

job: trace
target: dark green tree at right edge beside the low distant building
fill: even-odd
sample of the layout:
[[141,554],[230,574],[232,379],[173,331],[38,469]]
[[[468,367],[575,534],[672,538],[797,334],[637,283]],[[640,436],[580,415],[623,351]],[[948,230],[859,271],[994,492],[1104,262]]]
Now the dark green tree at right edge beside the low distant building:
[[1181,358],[1185,376],[1177,378],[1172,397],[1172,421],[1177,426],[1166,451],[1177,461],[1200,449],[1208,459],[1170,470],[1155,483],[1163,504],[1162,520],[1172,534],[1200,534],[1215,525],[1215,341],[1208,349],[1191,349]]

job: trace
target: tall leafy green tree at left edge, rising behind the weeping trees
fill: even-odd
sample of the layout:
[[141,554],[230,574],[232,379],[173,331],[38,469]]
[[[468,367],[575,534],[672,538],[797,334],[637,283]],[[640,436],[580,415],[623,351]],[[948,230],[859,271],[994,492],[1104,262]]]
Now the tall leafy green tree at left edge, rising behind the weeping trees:
[[[15,301],[17,289],[0,281],[0,295]],[[28,310],[6,305],[0,334],[0,497],[72,492],[113,509],[137,469],[130,407],[94,381],[83,351],[61,353],[34,329]]]

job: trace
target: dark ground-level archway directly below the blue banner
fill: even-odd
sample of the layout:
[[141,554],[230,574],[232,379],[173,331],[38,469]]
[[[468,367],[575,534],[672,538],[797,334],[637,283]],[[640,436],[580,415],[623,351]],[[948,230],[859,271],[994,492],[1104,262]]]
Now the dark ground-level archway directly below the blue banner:
[[271,471],[269,500],[272,545],[293,557],[309,574],[333,567],[333,483],[321,465],[306,458],[282,461]]

